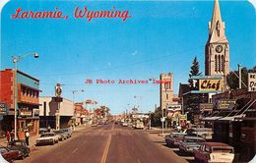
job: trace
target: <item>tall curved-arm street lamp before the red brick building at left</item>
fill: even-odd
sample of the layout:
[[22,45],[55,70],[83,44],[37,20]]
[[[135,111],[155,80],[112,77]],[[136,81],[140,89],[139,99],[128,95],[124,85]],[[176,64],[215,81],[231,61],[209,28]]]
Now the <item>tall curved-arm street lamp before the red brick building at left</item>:
[[13,58],[13,63],[14,63],[14,139],[17,139],[17,67],[18,67],[18,62],[21,61],[23,58],[28,57],[32,55],[34,58],[38,58],[39,55],[38,53],[32,53],[32,54],[25,54],[23,56],[12,56]]

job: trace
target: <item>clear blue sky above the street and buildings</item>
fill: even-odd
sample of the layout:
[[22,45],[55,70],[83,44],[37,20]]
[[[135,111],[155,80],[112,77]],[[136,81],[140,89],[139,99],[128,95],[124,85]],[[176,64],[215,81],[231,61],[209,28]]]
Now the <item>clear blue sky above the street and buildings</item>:
[[[225,34],[230,45],[230,67],[256,64],[255,8],[247,1],[221,1]],[[129,10],[132,18],[75,20],[76,7],[89,10]],[[53,95],[56,82],[63,96],[76,101],[95,99],[111,113],[128,105],[148,112],[159,105],[158,84],[86,84],[87,79],[148,80],[160,73],[174,75],[174,93],[186,82],[192,59],[197,56],[204,72],[204,47],[214,1],[11,1],[1,13],[1,70],[12,68],[11,56],[38,52],[19,62],[19,69],[40,80],[41,95]],[[57,7],[68,20],[12,20],[18,7],[47,11]],[[134,98],[141,96],[141,98]]]

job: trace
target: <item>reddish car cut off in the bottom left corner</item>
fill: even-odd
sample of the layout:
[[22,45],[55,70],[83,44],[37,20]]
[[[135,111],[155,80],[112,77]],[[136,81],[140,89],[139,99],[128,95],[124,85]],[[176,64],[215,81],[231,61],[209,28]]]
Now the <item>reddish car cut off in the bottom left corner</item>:
[[6,161],[13,162],[14,160],[19,158],[21,151],[11,150],[7,147],[0,146],[0,153]]

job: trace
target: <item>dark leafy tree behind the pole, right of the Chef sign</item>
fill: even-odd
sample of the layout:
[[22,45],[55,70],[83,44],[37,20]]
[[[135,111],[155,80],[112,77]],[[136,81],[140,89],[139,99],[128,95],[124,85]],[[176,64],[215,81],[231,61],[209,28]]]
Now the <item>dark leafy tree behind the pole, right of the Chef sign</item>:
[[[246,67],[243,67],[241,69],[241,79],[242,82],[242,88],[246,87],[248,84],[248,73],[256,73],[256,66],[254,66],[252,69],[247,70]],[[237,89],[239,87],[239,74],[238,71],[230,72],[229,75],[226,76],[226,82],[228,86],[231,89]]]

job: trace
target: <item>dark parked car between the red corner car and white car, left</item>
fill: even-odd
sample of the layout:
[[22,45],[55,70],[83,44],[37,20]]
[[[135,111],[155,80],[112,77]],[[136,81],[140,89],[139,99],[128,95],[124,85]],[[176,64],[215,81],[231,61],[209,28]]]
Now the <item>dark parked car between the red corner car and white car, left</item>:
[[20,155],[19,155],[19,158],[22,158],[22,159],[24,159],[25,157],[30,156],[30,153],[31,153],[30,147],[27,145],[26,141],[23,140],[23,139],[13,140],[13,141],[8,143],[7,147],[11,150],[21,151]]

